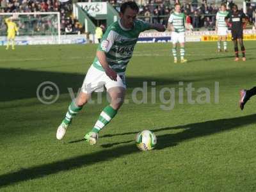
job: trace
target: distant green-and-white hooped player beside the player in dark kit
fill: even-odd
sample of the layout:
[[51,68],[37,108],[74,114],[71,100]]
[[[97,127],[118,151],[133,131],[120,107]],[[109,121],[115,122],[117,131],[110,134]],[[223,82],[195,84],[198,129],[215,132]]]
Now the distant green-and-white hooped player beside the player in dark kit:
[[227,17],[228,12],[226,10],[226,5],[221,4],[220,11],[216,15],[216,32],[218,35],[218,52],[221,52],[221,41],[223,42],[224,51],[227,52],[227,34],[228,26],[225,22],[225,17]]

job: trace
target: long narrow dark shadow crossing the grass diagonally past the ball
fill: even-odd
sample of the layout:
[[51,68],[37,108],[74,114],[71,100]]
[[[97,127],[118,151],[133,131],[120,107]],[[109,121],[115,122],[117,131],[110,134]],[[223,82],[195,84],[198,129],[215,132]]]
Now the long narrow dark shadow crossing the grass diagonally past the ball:
[[[172,147],[184,140],[191,140],[222,131],[229,131],[238,127],[255,124],[255,122],[256,115],[248,115],[236,118],[225,118],[219,120],[211,120],[207,122],[199,122],[195,124],[179,125],[175,127],[164,127],[161,129],[155,129],[153,131],[161,132],[172,129],[184,129],[184,131],[178,132],[176,134],[164,134],[158,136],[157,149],[159,150],[162,148]],[[132,133],[127,132],[124,134]],[[73,170],[84,166],[90,166],[91,164],[99,163],[102,161],[110,161],[114,158],[127,156],[129,154],[138,152],[138,149],[136,148],[136,145],[134,145],[134,143],[127,145],[124,144],[125,141],[122,143],[123,145],[100,150],[99,152],[94,152],[92,154],[83,154],[81,156],[70,157],[69,159],[63,159],[48,164],[40,164],[38,166],[33,166],[30,168],[25,168],[22,170],[17,170],[15,172],[0,175],[0,188],[3,186],[15,184],[17,182],[38,179],[41,177],[47,177],[47,175]],[[127,143],[129,143],[129,141],[127,141]],[[111,143],[109,144],[109,146],[110,145]]]

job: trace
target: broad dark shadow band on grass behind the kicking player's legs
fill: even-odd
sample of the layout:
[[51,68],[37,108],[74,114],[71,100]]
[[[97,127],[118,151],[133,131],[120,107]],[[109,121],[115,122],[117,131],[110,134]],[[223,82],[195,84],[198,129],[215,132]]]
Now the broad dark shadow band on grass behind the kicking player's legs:
[[[40,84],[51,81],[58,86],[60,94],[70,93],[70,88],[76,92],[81,88],[85,74],[79,73],[65,73],[65,72],[47,72],[38,70],[24,70],[19,68],[0,68],[0,88],[4,90],[0,94],[0,102],[11,101],[17,99],[36,98],[37,91]],[[148,86],[151,86],[150,82],[156,82],[160,86],[173,86],[180,81],[194,82],[193,79],[172,79],[170,77],[127,77],[127,87],[130,91],[132,88],[142,87],[143,82],[147,82]],[[49,84],[46,84],[49,86]],[[46,86],[45,85],[45,86]],[[42,86],[41,88],[44,88]],[[51,86],[52,87],[52,86]],[[54,87],[53,90],[47,90],[47,94],[56,95],[57,91]],[[39,95],[41,92],[38,92]],[[39,100],[38,103],[40,104]],[[35,105],[35,103],[33,103]]]

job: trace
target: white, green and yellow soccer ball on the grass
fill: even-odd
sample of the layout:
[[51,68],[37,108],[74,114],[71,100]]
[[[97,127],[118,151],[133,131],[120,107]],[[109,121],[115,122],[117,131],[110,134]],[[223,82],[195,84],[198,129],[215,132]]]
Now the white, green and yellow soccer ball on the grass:
[[136,135],[136,145],[140,150],[152,150],[156,146],[156,135],[148,130]]

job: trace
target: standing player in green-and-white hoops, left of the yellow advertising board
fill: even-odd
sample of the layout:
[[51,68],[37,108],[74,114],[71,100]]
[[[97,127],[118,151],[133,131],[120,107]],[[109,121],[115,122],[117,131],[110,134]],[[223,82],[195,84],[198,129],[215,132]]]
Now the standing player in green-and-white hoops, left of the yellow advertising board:
[[180,63],[185,63],[188,60],[184,58],[185,56],[185,30],[190,28],[185,25],[186,16],[181,13],[180,4],[175,4],[175,12],[170,15],[168,20],[168,31],[172,31],[172,54],[174,57],[174,63],[177,63],[177,43],[180,44]]

